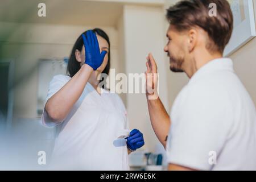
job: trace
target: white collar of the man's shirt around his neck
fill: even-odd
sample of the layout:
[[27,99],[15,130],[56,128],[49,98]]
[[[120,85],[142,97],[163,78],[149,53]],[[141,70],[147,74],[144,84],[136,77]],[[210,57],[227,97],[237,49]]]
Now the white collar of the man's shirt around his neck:
[[213,72],[229,71],[234,72],[233,61],[229,58],[220,58],[209,61],[203,65],[189,80],[188,84],[195,82],[197,79],[205,77]]

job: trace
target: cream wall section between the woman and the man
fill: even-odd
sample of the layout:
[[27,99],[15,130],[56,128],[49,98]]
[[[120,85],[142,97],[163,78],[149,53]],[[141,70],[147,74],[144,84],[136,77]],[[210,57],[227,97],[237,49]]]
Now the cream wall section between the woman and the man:
[[[168,108],[166,62],[164,47],[164,18],[162,7],[126,5],[123,10],[126,73],[144,73],[146,56],[155,56],[159,68],[159,94]],[[146,96],[127,94],[130,128],[138,128],[145,138],[145,149],[154,151],[158,139],[150,123]]]

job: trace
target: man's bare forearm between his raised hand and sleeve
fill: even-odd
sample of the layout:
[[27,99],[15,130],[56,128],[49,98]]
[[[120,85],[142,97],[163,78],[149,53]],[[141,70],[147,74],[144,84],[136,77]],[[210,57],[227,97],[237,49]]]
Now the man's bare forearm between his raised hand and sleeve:
[[156,137],[166,147],[166,139],[171,125],[170,117],[159,97],[156,100],[147,100],[147,106]]

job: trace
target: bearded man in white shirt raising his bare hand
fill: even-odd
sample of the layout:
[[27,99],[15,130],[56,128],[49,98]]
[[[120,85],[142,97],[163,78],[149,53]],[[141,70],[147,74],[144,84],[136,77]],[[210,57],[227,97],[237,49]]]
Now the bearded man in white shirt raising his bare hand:
[[[209,16],[210,3],[216,4],[217,16]],[[229,3],[180,1],[167,10],[167,19],[164,51],[171,71],[191,78],[170,116],[160,98],[147,99],[152,127],[166,147],[168,169],[256,170],[255,106],[232,60],[222,56],[233,30]],[[154,57],[147,60],[147,90],[157,90]],[[152,94],[156,92],[147,92],[147,98]]]

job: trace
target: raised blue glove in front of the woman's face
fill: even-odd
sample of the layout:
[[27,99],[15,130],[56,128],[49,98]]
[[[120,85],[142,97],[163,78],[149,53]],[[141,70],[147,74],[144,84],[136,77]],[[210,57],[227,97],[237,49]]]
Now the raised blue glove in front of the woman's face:
[[100,52],[97,36],[92,30],[86,32],[86,37],[82,34],[82,39],[84,40],[85,47],[84,63],[88,64],[94,71],[96,71],[96,69],[101,66],[107,52]]

